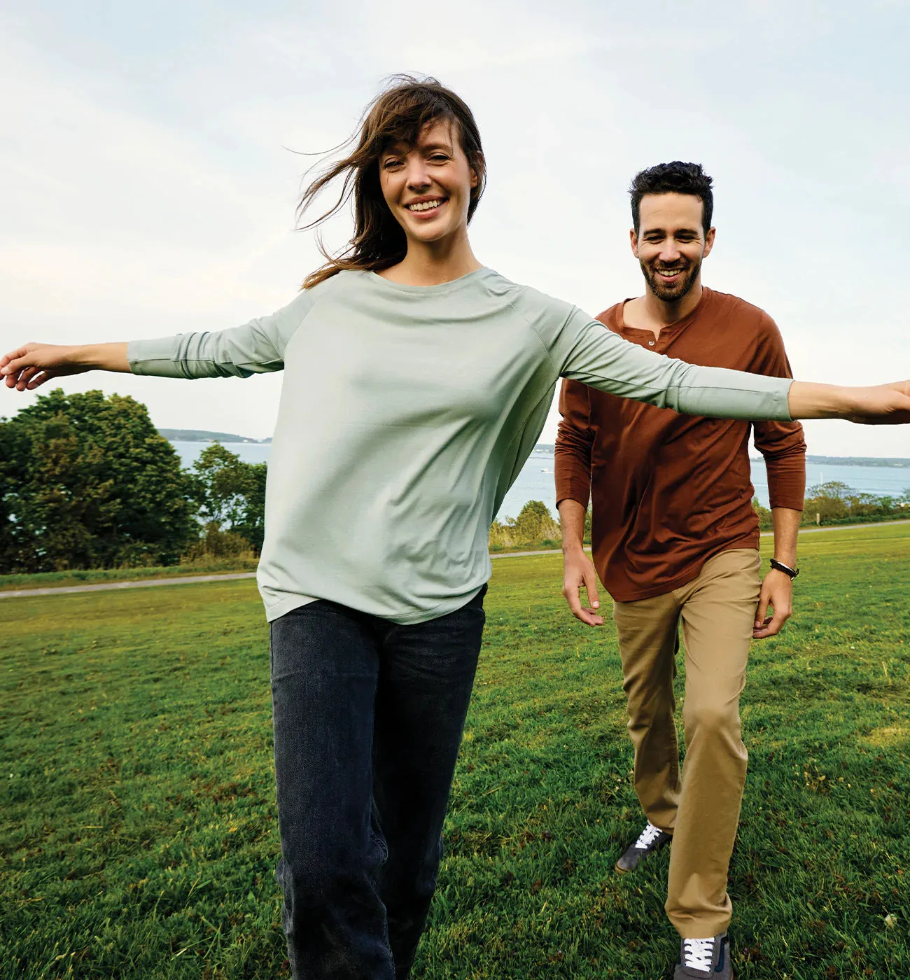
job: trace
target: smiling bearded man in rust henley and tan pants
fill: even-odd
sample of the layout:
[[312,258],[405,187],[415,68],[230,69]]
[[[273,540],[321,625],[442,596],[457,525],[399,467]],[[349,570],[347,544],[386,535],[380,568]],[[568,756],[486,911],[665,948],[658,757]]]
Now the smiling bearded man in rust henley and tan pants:
[[[701,262],[714,245],[711,178],[697,164],[676,161],[638,173],[631,194],[632,251],[646,292],[598,319],[659,354],[790,377],[774,321],[701,285]],[[592,626],[603,621],[598,574],[614,600],[635,788],[647,818],[616,869],[634,871],[672,841],[666,911],[683,940],[674,976],[729,978],[727,869],[747,758],[740,695],[749,641],[774,636],[790,616],[805,490],[802,426],[751,426],[768,471],[775,536],[772,567],[759,582],[749,422],[682,417],[568,380],[559,408],[563,593]],[[582,548],[589,496],[594,564]],[[680,624],[682,770],[673,696]]]

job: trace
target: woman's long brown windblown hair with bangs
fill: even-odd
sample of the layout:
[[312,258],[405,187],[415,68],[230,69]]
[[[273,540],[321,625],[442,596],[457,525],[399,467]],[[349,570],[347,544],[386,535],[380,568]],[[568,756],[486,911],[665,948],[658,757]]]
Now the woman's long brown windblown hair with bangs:
[[486,182],[486,165],[480,133],[470,109],[451,89],[435,78],[420,81],[407,74],[393,75],[387,87],[366,107],[359,134],[352,136],[338,150],[357,145],[346,157],[330,164],[304,191],[297,209],[301,220],[316,195],[336,178],[341,190],[335,204],[323,215],[299,225],[300,230],[316,228],[354,197],[354,235],[336,255],[326,251],[317,238],[325,265],[310,273],[303,288],[322,282],[342,270],[383,270],[401,262],[407,253],[407,239],[382,196],[379,182],[379,158],[390,144],[414,144],[426,123],[451,121],[467,162],[477,174],[477,186],[471,189],[467,220],[474,215]]

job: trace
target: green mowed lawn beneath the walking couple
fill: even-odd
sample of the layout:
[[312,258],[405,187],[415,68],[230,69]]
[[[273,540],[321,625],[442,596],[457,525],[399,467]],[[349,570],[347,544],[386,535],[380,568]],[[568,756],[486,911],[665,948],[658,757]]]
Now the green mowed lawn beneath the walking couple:
[[[754,646],[743,698],[739,976],[907,977],[910,526],[800,551],[796,614]],[[642,816],[611,626],[569,617],[558,556],[494,569],[414,973],[665,977],[666,853],[612,870]],[[287,976],[253,583],[0,611],[3,980]]]

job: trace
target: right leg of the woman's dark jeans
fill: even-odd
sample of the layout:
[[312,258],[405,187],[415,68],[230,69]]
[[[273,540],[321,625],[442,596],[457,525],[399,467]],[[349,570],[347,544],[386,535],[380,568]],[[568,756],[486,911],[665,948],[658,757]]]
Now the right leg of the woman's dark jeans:
[[389,858],[378,874],[396,977],[406,980],[436,889],[442,829],[484,626],[484,588],[455,613],[384,636],[373,747]]

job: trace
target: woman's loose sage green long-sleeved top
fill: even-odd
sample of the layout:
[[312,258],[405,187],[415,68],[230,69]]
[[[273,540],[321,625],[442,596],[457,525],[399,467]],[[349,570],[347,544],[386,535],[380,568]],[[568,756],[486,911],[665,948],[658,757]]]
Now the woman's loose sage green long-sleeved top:
[[490,577],[490,524],[559,377],[695,416],[789,420],[788,378],[630,344],[498,272],[406,286],[339,272],[263,319],[132,341],[135,374],[284,370],[259,587],[269,620],[318,599],[400,623]]

